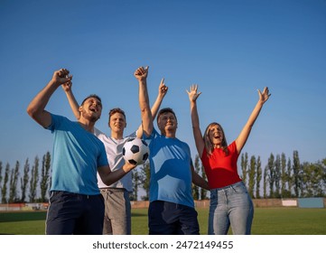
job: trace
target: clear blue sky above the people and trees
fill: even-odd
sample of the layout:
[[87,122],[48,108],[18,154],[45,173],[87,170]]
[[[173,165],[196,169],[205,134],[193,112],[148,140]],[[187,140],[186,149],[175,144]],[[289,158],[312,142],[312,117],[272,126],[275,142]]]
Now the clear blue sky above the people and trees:
[[[175,110],[177,136],[196,155],[186,89],[197,83],[202,131],[211,121],[228,143],[256,105],[256,89],[272,93],[243,153],[271,153],[301,162],[326,158],[325,0],[1,0],[0,161],[30,162],[51,151],[51,132],[26,114],[33,97],[67,68],[79,102],[103,100],[97,126],[109,133],[107,112],[126,111],[126,134],[140,124],[134,71],[150,67],[151,103],[162,78],[163,107]],[[74,119],[58,89],[47,109]],[[156,126],[156,125],[155,125]]]

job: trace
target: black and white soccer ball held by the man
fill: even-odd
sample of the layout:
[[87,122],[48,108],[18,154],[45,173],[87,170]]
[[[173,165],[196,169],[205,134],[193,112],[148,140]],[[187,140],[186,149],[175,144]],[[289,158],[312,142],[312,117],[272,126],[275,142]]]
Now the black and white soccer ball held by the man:
[[122,148],[122,155],[130,164],[144,164],[149,155],[149,147],[142,139],[131,138]]

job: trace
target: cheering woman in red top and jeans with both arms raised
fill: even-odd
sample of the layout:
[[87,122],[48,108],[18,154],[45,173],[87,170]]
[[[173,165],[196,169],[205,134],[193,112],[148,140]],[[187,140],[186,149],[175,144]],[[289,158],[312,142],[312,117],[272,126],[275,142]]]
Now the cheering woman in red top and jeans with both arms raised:
[[210,184],[209,234],[226,235],[229,226],[233,234],[250,234],[254,206],[245,183],[238,175],[237,162],[261,108],[271,96],[269,90],[267,87],[263,92],[258,89],[256,107],[238,138],[230,145],[222,126],[216,122],[210,123],[204,135],[201,135],[196,103],[201,92],[198,92],[197,85],[192,85],[187,93],[191,102],[193,136]]

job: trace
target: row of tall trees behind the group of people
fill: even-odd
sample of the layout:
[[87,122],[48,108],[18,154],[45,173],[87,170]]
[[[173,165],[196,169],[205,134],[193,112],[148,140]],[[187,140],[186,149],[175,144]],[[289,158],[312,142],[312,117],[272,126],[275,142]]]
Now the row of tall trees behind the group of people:
[[[260,156],[242,154],[239,172],[247,185],[247,190],[254,199],[267,198],[299,198],[326,197],[326,158],[316,163],[301,163],[298,151],[293,151],[293,159],[284,154],[268,158],[265,167]],[[204,168],[198,155],[194,159],[194,168],[206,179]],[[131,200],[149,199],[149,164],[138,166],[133,172]],[[51,188],[51,155],[47,152],[38,156],[30,164],[27,158],[23,167],[17,161],[14,167],[0,161],[0,193],[1,203],[46,202]],[[138,196],[143,189],[144,195]],[[194,200],[209,198],[209,192],[192,185]]]

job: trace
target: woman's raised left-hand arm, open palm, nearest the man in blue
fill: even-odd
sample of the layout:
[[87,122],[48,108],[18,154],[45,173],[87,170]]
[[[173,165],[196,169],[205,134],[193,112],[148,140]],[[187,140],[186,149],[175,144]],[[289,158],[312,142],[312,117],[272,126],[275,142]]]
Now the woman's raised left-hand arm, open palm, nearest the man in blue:
[[193,84],[191,85],[191,91],[187,90],[189,100],[191,102],[191,125],[192,125],[192,132],[193,137],[195,139],[195,144],[197,148],[198,155],[202,155],[204,150],[204,141],[202,139],[201,131],[200,131],[200,117],[198,116],[197,110],[197,98],[200,97],[201,92],[198,91],[198,85]]

